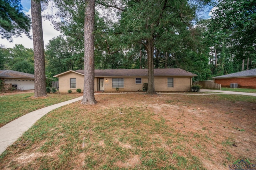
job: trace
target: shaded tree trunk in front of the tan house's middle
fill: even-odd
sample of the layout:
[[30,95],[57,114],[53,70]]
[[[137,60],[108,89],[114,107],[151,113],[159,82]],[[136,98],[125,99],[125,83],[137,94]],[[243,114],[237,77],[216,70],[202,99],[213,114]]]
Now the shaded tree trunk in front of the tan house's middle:
[[154,95],[157,94],[155,91],[154,84],[154,40],[148,39],[145,45],[147,55],[148,55],[148,91],[147,94]]

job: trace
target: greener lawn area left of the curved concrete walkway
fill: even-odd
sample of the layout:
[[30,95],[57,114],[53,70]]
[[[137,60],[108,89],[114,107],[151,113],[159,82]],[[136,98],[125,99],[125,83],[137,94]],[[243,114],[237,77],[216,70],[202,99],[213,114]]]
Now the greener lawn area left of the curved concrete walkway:
[[34,93],[0,96],[0,127],[31,111],[78,97],[75,94],[48,94],[43,98],[33,96]]

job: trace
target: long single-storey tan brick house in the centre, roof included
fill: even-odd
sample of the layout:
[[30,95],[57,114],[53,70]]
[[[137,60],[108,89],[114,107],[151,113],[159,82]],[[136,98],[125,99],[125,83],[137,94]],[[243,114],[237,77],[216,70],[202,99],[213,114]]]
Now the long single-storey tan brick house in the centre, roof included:
[[[180,68],[155,68],[155,90],[166,91],[190,91],[192,77],[197,76]],[[76,92],[76,89],[84,89],[84,70],[69,70],[54,77],[59,78],[59,92],[68,90]],[[119,69],[119,70],[94,70],[94,91],[134,92],[142,91],[143,84],[148,82],[148,69]]]

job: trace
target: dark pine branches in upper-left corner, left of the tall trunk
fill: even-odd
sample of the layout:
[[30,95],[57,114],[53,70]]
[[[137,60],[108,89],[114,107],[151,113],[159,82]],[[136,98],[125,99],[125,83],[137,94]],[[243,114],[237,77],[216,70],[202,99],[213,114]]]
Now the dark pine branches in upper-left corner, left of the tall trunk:
[[0,35],[12,41],[12,37],[25,33],[30,36],[30,17],[22,12],[20,0],[0,0]]

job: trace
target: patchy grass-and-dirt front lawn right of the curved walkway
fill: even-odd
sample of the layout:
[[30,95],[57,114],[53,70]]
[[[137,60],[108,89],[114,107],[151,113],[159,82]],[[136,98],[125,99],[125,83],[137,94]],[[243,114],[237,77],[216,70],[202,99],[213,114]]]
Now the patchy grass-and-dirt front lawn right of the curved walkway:
[[[49,125],[48,130],[44,127],[44,137],[40,140],[20,139],[17,143],[26,143],[26,146],[10,147],[1,158],[0,168],[40,169],[45,164],[45,167],[57,169],[62,166],[67,169],[161,169],[168,164],[178,170],[227,170],[236,160],[244,159],[256,164],[255,97],[247,96],[249,101],[238,100],[239,97],[233,99],[232,95],[103,94],[95,97],[98,101],[95,106],[82,106],[76,102],[46,115],[42,121],[56,119],[56,124],[52,123],[54,127]],[[138,111],[145,115],[140,113],[136,116]],[[66,112],[69,118],[64,117]],[[116,121],[118,119],[120,121]],[[106,121],[116,122],[104,129],[101,124]],[[130,126],[133,121],[136,124]],[[79,131],[76,145],[68,144],[69,136],[66,136],[68,132],[64,124],[70,127],[79,124],[71,129]],[[157,125],[160,126],[155,130]],[[53,130],[56,134],[51,137]],[[35,129],[29,133],[33,131],[36,133]],[[133,143],[138,136],[130,134],[131,131],[146,138],[143,146]],[[55,140],[62,136],[65,136],[63,140]],[[47,144],[51,149],[45,149],[46,143],[51,143]],[[67,145],[71,147],[69,152],[72,154],[65,158],[69,159],[65,162],[61,160],[61,153],[66,150],[67,154],[68,149],[64,149]],[[113,145],[122,149],[122,154],[118,152],[119,157],[115,157]],[[159,148],[163,149],[160,154],[154,154],[154,150]],[[182,159],[177,157],[187,161],[179,164]],[[51,166],[47,166],[47,162]],[[198,165],[192,166],[196,162]]]

